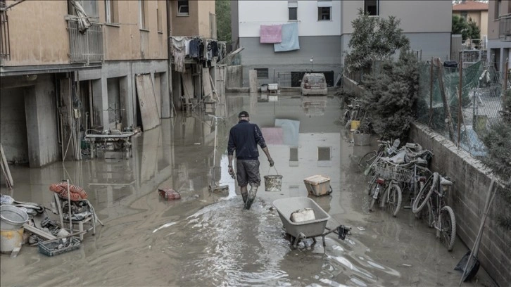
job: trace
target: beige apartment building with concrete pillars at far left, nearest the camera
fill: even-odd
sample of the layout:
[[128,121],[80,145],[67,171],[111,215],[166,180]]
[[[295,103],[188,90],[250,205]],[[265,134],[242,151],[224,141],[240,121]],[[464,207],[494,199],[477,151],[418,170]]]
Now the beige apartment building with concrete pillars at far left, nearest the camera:
[[[2,0],[0,8],[7,160],[73,159],[65,150],[88,129],[150,129],[170,116],[166,1]],[[158,116],[144,126],[148,97]]]

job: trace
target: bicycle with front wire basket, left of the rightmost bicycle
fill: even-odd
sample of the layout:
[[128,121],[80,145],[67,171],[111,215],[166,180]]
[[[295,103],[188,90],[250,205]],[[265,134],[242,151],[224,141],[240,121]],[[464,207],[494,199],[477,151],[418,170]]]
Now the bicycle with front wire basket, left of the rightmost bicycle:
[[[410,164],[395,165],[384,159],[378,162],[374,166],[374,177],[369,187],[371,197],[369,210],[372,211],[374,203],[379,201],[380,208],[389,205],[392,216],[396,217],[402,201],[400,184],[409,182],[412,176]],[[384,191],[384,195],[380,197],[381,191]]]

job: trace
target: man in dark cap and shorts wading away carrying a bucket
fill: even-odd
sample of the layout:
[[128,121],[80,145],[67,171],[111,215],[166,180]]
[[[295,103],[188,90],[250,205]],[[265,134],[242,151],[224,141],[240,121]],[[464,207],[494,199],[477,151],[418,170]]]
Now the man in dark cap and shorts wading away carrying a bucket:
[[[255,199],[255,194],[258,192],[258,186],[261,183],[258,145],[263,148],[268,162],[270,162],[270,167],[275,162],[273,162],[270,156],[270,151],[268,151],[261,130],[258,125],[250,122],[248,113],[242,111],[239,113],[238,118],[238,124],[232,127],[229,132],[229,144],[227,145],[229,174],[234,177],[232,155],[234,150],[236,150],[236,177],[241,189],[241,196],[243,196],[243,202],[245,203],[245,209],[248,210]],[[247,189],[248,184],[251,186],[250,191]]]

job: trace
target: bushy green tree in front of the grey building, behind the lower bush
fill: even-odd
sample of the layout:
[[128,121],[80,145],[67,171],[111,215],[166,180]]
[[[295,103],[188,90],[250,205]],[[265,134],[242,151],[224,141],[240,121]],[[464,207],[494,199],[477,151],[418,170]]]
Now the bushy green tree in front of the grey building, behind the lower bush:
[[408,48],[410,40],[399,27],[400,20],[394,16],[389,18],[370,17],[362,9],[358,18],[351,22],[351,34],[346,52],[346,68],[349,71],[367,70],[374,60],[389,58],[396,50]]

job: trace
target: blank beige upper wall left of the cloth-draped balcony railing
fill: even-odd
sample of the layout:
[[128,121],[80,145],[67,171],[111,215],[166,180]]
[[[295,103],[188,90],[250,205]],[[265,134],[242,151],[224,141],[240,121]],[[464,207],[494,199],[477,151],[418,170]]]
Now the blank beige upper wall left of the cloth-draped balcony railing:
[[[16,1],[6,1],[6,5]],[[67,1],[25,1],[7,12],[11,60],[4,65],[69,63],[69,35],[64,15]]]

